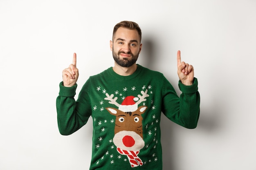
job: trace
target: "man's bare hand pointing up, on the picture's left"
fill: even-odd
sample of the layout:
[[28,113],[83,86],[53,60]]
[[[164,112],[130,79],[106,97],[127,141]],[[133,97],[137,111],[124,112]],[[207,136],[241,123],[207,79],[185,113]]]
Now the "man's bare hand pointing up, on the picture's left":
[[76,53],[73,55],[73,63],[62,71],[63,86],[71,87],[76,84],[78,79],[78,69],[76,68]]

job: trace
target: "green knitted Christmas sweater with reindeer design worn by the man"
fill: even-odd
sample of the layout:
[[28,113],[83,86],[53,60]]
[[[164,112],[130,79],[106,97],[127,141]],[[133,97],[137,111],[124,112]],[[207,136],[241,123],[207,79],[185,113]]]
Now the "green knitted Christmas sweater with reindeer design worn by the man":
[[140,65],[129,76],[118,75],[112,67],[91,76],[77,101],[76,87],[60,84],[58,128],[70,135],[92,116],[90,170],[162,170],[161,112],[185,128],[197,126],[196,78],[191,86],[179,82],[180,97],[162,73]]

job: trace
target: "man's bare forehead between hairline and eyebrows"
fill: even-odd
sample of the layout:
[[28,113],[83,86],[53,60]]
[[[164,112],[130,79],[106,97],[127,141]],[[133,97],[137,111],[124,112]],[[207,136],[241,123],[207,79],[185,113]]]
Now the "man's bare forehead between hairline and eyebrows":
[[120,27],[117,29],[115,35],[113,36],[113,40],[117,39],[123,39],[125,41],[130,41],[130,40],[137,40],[138,42],[140,41],[139,33],[136,29],[126,29],[124,27]]

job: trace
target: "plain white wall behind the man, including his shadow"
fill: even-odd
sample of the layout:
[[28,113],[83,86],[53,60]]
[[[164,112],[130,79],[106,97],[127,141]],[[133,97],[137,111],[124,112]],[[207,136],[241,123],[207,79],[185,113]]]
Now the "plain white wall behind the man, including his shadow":
[[92,119],[59,134],[58,84],[74,52],[77,93],[113,66],[109,40],[122,20],[142,29],[138,64],[180,94],[181,50],[198,78],[198,127],[162,117],[164,170],[256,170],[256,0],[0,0],[0,169],[89,168]]

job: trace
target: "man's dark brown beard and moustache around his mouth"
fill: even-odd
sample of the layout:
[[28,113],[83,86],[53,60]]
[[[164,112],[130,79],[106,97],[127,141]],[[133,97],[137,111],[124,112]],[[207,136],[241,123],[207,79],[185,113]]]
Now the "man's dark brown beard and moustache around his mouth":
[[[129,54],[131,57],[130,58],[120,58],[119,55],[121,53]],[[115,62],[119,66],[122,66],[122,67],[130,67],[130,66],[132,66],[133,64],[136,63],[136,61],[137,61],[137,59],[139,57],[139,53],[137,55],[133,55],[131,52],[125,53],[124,51],[119,51],[118,53],[116,53],[114,51],[114,49],[112,49],[112,55],[113,55],[113,58],[114,58]]]

